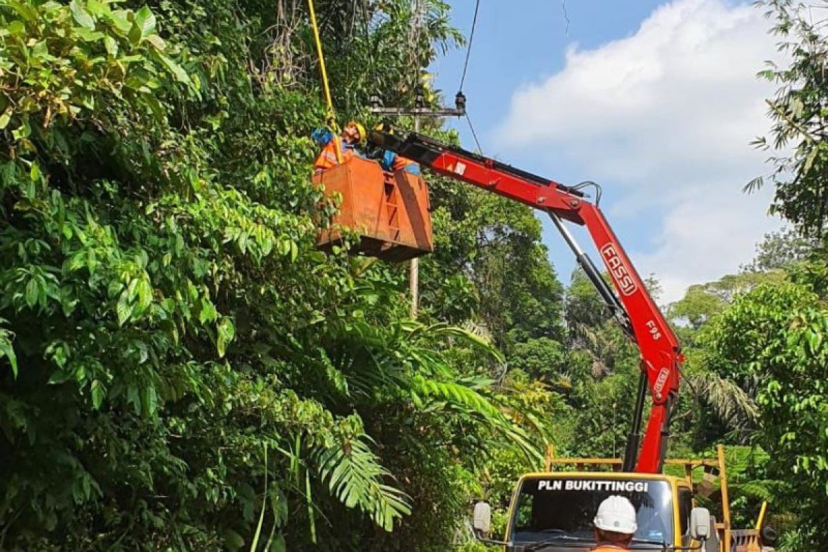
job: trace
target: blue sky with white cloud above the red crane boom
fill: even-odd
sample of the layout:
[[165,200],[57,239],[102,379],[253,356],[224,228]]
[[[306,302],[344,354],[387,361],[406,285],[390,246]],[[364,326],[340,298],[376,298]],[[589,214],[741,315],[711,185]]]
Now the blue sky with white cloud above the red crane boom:
[[[767,171],[749,146],[768,127],[773,91],[755,78],[774,55],[760,12],[725,0],[567,0],[567,23],[558,0],[480,3],[464,92],[486,155],[603,185],[604,212],[639,270],[662,281],[662,301],[750,260],[779,224],[765,214],[767,191],[739,191]],[[451,4],[468,33],[474,1]],[[432,66],[448,101],[464,57]],[[472,149],[466,122],[448,123]],[[546,222],[544,242],[567,281],[570,252]]]

